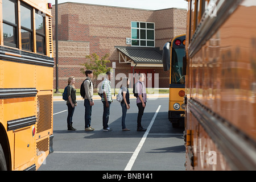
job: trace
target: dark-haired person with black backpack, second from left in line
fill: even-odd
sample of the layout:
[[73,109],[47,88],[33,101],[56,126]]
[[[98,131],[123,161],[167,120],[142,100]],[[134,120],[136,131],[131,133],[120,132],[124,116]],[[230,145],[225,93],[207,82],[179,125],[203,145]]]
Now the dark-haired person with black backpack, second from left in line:
[[94,131],[94,128],[90,126],[91,116],[92,116],[92,106],[94,105],[93,84],[92,84],[93,72],[91,70],[86,70],[85,75],[86,75],[86,80],[84,81],[85,131]]

